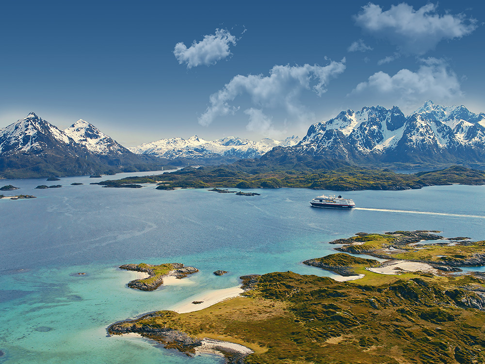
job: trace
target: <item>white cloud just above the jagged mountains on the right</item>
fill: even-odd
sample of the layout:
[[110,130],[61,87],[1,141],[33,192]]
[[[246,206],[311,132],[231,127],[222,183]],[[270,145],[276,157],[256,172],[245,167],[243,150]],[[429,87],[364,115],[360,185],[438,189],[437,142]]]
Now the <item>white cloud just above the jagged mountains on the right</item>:
[[458,77],[443,60],[427,58],[420,62],[417,72],[404,68],[393,76],[382,71],[374,73],[347,96],[364,103],[398,105],[405,112],[426,100],[448,103],[464,96]]

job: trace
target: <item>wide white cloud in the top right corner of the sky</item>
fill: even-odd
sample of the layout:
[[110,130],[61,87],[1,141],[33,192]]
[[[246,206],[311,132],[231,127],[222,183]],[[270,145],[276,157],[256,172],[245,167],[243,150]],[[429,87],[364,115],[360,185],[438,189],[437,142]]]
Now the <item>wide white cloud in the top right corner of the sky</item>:
[[404,54],[422,55],[442,40],[461,38],[477,28],[477,21],[463,14],[436,14],[437,5],[428,3],[418,10],[401,3],[383,11],[368,3],[355,16],[356,24],[379,38],[388,39]]

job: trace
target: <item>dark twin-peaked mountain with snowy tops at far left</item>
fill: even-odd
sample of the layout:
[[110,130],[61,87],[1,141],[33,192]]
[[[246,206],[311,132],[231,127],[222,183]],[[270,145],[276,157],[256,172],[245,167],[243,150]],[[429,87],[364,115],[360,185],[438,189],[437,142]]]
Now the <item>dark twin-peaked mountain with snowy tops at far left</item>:
[[82,120],[62,131],[30,113],[0,130],[0,177],[156,170],[162,165],[160,159],[133,154]]

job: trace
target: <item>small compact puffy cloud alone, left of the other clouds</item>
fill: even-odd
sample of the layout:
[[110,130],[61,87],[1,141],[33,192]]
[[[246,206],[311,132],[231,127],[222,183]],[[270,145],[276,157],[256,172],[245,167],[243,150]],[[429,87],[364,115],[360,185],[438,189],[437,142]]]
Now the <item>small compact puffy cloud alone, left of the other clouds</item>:
[[231,43],[235,46],[237,40],[239,39],[236,39],[228,30],[216,29],[215,34],[204,35],[204,39],[200,42],[197,43],[194,40],[190,48],[182,42],[177,43],[174,54],[178,63],[186,64],[187,68],[215,65],[217,61],[232,54],[229,46]]

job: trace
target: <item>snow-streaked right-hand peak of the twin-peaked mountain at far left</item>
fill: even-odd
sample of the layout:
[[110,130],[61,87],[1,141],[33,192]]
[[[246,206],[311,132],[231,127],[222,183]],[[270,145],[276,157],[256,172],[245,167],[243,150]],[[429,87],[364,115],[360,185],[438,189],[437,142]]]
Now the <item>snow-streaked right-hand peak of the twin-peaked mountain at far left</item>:
[[100,132],[93,124],[82,119],[76,121],[64,132],[93,154],[120,155],[129,153],[128,149],[117,143],[110,136]]

